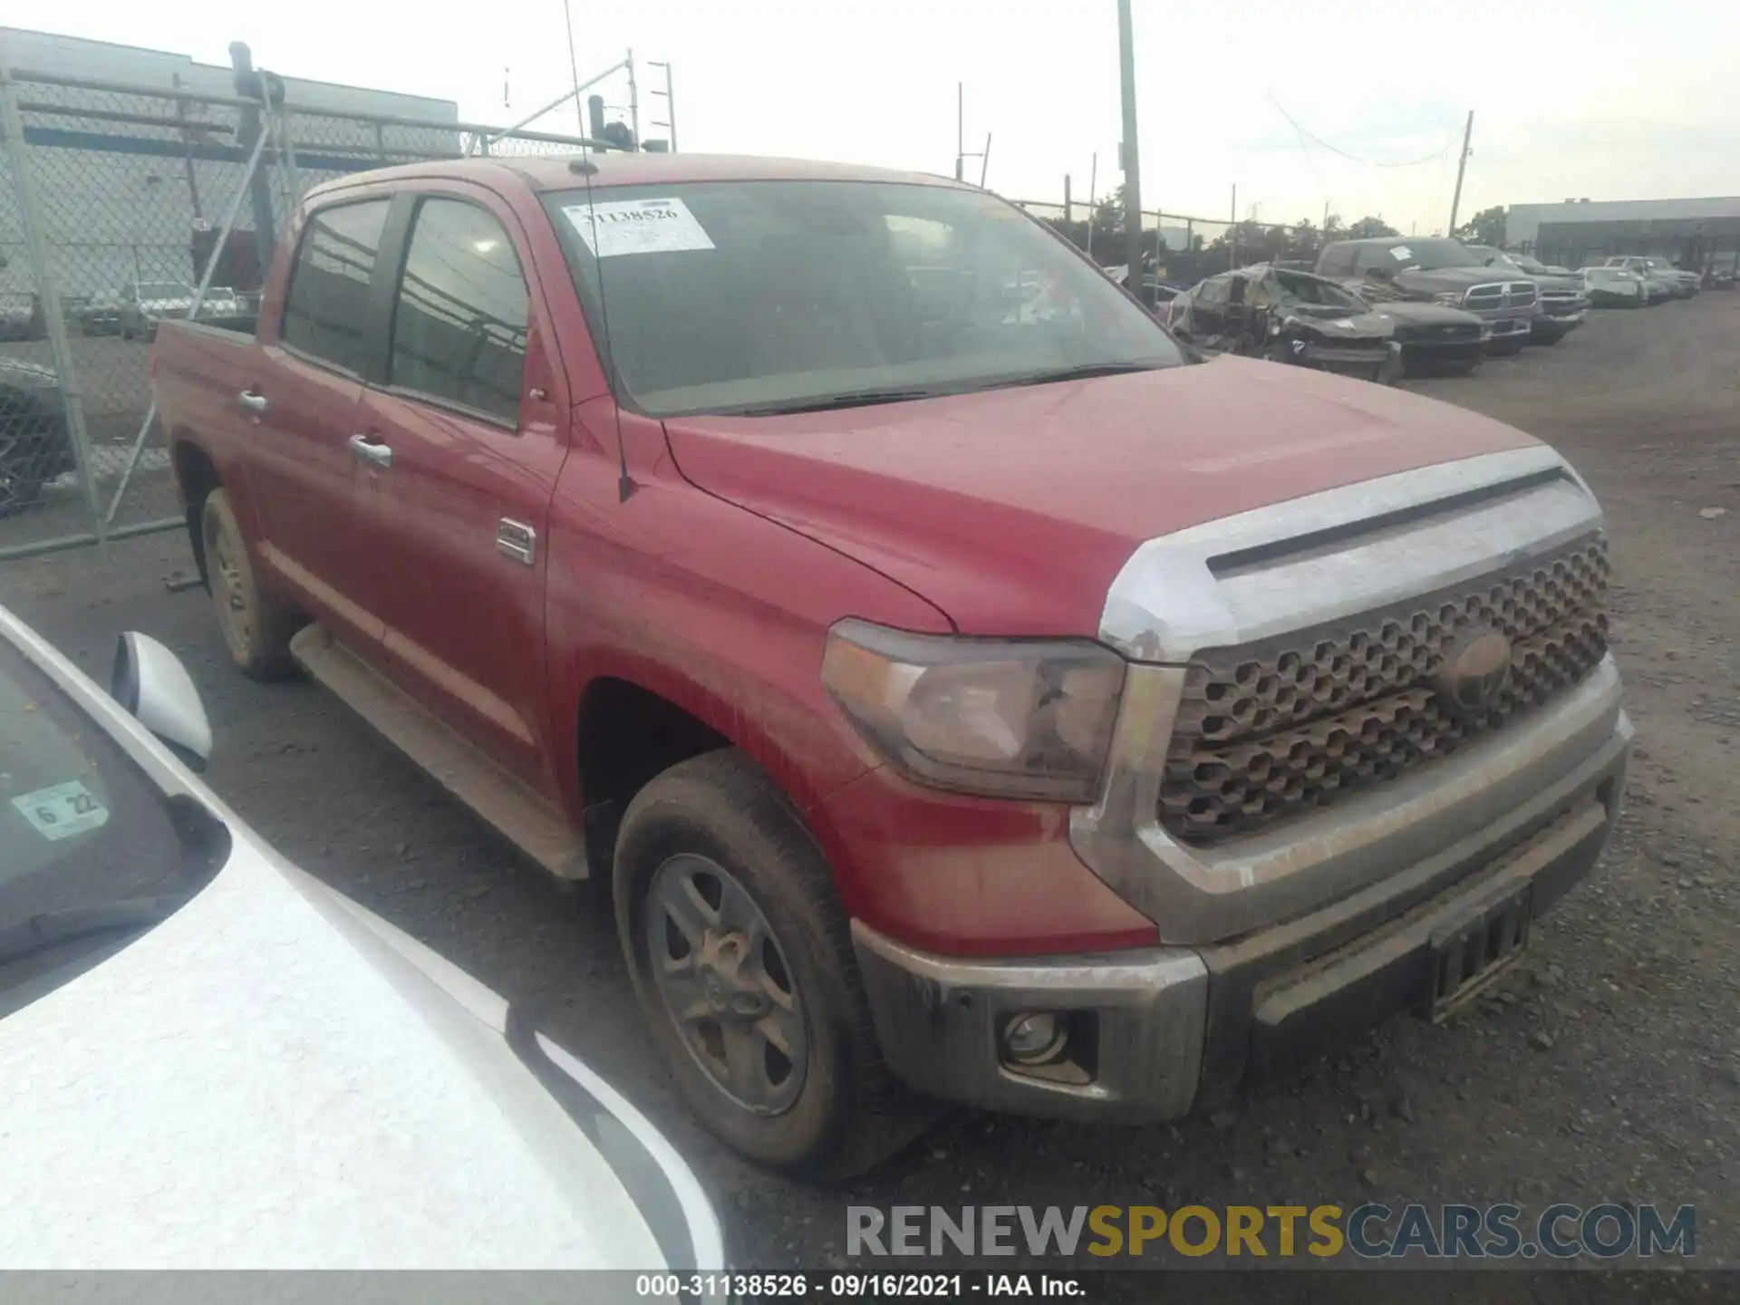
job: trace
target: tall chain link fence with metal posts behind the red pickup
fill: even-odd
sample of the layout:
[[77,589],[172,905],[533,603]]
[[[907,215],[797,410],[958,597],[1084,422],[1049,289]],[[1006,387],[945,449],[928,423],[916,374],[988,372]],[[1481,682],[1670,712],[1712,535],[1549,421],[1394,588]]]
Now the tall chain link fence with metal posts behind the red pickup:
[[311,186],[581,148],[5,70],[0,136],[0,559],[181,525],[150,388],[157,324],[252,331],[273,245]]

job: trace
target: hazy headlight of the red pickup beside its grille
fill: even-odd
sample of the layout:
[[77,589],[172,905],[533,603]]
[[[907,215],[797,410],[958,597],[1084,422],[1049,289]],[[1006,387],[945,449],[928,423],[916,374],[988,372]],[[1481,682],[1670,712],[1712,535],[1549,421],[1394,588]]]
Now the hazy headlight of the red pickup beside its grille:
[[1088,640],[828,632],[821,682],[896,769],[990,797],[1093,802],[1124,659]]

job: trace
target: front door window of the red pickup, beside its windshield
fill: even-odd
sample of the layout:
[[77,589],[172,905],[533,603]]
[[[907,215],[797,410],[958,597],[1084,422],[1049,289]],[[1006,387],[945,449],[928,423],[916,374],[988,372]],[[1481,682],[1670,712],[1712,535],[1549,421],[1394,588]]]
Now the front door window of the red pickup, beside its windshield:
[[392,385],[517,426],[525,318],[525,275],[501,223],[475,204],[423,200],[393,304]]

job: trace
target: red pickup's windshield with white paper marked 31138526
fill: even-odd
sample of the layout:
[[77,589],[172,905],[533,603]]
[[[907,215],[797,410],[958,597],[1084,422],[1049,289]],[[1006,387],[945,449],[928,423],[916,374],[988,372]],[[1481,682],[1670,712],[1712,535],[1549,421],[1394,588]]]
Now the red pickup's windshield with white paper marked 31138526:
[[1176,367],[1159,324],[981,191],[720,181],[546,197],[618,397],[776,412]]

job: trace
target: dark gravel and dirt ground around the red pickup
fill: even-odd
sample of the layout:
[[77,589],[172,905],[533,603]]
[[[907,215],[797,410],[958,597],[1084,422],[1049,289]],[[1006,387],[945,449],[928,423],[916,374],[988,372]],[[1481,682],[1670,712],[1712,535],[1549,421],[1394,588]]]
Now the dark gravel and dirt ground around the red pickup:
[[1395,1021],[1237,1110],[1091,1129],[978,1114],[849,1192],[769,1178],[686,1115],[637,1028],[607,920],[306,684],[233,675],[174,538],[0,567],[0,599],[96,673],[117,630],[164,639],[207,694],[216,788],[289,856],[524,1002],[694,1157],[760,1265],[839,1263],[847,1202],[1225,1206],[1371,1195],[1698,1206],[1740,1260],[1740,296],[1597,315],[1556,348],[1423,393],[1557,444],[1611,524],[1613,642],[1639,748],[1596,879],[1538,924],[1479,1011]]

